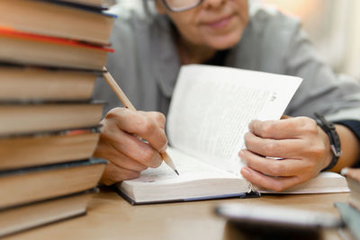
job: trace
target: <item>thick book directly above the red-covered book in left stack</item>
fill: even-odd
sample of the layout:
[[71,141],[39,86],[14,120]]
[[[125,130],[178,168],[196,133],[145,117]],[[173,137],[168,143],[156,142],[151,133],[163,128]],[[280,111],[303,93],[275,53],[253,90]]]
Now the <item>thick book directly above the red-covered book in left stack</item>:
[[0,22],[16,31],[109,45],[115,16],[89,9],[81,1],[69,2],[2,0]]

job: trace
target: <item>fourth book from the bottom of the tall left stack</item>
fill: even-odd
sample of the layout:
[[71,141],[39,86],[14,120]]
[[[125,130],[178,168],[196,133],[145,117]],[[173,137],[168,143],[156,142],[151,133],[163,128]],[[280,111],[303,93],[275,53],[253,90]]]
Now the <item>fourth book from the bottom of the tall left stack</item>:
[[98,125],[103,102],[0,102],[0,136]]

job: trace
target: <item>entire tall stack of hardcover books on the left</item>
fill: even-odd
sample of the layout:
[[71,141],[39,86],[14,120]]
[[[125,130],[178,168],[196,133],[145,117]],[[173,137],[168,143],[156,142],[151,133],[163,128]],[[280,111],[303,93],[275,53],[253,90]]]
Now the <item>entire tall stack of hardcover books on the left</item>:
[[1,1],[0,237],[84,215],[96,191],[110,2]]

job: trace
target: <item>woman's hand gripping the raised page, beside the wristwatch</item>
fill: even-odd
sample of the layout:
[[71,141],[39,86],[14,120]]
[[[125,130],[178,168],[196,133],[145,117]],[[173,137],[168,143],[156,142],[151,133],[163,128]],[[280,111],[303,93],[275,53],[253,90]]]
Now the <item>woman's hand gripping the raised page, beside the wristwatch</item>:
[[247,163],[241,174],[257,186],[284,191],[315,177],[331,161],[329,137],[311,118],[253,120],[248,129],[247,149],[238,156]]

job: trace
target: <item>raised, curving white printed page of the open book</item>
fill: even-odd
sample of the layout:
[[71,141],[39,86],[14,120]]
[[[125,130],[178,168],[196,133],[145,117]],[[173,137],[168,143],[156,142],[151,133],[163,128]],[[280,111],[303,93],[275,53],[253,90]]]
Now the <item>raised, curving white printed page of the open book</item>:
[[251,120],[280,119],[302,79],[230,67],[182,67],[167,117],[173,147],[230,173]]

